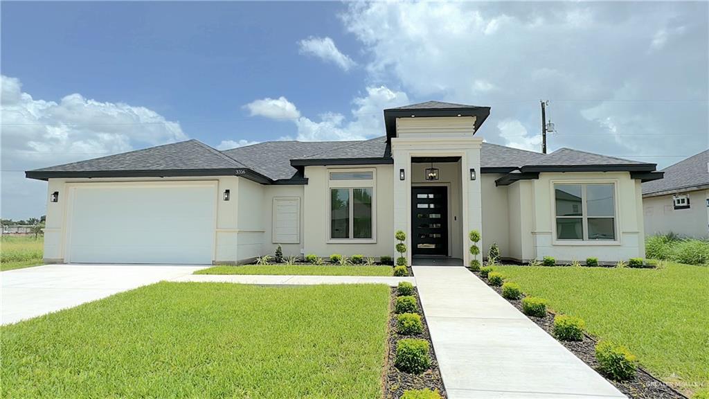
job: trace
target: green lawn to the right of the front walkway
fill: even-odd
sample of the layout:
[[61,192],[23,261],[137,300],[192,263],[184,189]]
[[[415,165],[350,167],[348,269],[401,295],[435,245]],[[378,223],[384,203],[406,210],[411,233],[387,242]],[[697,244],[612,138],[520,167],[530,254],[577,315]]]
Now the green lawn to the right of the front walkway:
[[709,386],[709,268],[496,266],[527,295],[581,317],[586,329],[636,354],[658,378],[691,393]]

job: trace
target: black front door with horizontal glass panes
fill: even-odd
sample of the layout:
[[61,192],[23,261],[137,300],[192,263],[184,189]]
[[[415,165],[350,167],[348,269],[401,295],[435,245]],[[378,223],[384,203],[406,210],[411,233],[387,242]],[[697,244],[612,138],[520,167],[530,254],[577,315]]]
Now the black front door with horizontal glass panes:
[[448,195],[446,187],[411,188],[413,255],[448,254]]

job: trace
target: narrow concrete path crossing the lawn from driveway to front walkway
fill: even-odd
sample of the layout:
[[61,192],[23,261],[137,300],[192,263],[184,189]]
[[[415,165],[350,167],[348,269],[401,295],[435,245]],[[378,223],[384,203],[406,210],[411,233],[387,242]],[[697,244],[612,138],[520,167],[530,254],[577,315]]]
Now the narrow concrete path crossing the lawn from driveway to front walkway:
[[396,287],[400,281],[416,284],[413,277],[386,277],[376,275],[183,275],[172,281],[196,283],[240,283],[260,285],[316,285],[316,284],[386,284]]

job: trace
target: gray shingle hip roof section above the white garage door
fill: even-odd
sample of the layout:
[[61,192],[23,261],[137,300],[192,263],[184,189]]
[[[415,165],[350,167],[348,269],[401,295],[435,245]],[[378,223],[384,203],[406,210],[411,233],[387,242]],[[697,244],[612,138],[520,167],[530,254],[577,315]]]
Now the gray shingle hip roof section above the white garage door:
[[32,172],[94,172],[97,170],[193,170],[245,168],[236,160],[196,140],[181,141],[101,158],[50,166]]

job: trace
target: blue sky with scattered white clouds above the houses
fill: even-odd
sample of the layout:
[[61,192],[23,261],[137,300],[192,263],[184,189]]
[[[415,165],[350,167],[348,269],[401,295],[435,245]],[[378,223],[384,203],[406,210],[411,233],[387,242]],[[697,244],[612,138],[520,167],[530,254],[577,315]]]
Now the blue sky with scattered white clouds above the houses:
[[708,4],[74,2],[1,5],[4,218],[22,170],[197,138],[384,133],[381,110],[491,106],[477,133],[664,167],[709,147]]

